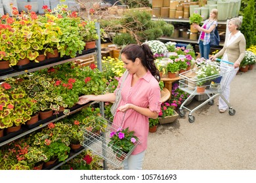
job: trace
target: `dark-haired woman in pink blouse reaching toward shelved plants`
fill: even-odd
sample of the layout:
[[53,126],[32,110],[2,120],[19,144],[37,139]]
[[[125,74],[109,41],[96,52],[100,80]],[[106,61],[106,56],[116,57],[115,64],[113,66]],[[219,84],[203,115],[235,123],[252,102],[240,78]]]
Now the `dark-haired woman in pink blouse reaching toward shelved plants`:
[[[132,155],[123,161],[124,169],[142,169],[148,141],[148,118],[158,118],[161,107],[160,75],[153,54],[147,44],[129,44],[121,51],[121,60],[129,75],[123,83],[121,102],[114,124],[135,131],[140,144]],[[119,80],[120,87],[123,77]],[[78,104],[89,101],[115,101],[116,91],[104,95],[83,95]]]

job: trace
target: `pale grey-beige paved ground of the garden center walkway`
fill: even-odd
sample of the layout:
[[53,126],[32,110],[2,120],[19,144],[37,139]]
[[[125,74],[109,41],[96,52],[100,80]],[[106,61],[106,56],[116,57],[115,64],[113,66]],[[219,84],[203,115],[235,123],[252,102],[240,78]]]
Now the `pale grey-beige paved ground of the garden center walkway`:
[[[143,169],[256,170],[256,69],[238,73],[231,84],[234,116],[219,113],[215,104],[196,112],[194,123],[178,118],[150,133]],[[194,99],[188,107],[200,102]]]

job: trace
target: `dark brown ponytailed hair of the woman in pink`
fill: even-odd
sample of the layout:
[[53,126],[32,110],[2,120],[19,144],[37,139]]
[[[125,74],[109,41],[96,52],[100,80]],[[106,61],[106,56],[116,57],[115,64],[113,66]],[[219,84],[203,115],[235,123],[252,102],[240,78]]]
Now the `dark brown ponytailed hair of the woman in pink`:
[[126,58],[131,59],[133,62],[135,62],[136,58],[139,58],[142,65],[150,71],[158,82],[160,81],[160,73],[156,68],[154,56],[148,44],[142,44],[141,46],[129,44],[121,50],[121,54],[125,54]]

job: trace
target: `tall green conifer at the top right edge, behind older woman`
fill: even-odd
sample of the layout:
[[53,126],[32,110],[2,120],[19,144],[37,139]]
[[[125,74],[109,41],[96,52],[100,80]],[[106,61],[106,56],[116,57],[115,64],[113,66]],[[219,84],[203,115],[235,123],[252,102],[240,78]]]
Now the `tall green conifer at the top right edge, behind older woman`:
[[242,21],[241,32],[246,40],[246,48],[249,48],[256,42],[256,21],[255,21],[255,1],[249,0],[247,7],[244,8],[244,16]]

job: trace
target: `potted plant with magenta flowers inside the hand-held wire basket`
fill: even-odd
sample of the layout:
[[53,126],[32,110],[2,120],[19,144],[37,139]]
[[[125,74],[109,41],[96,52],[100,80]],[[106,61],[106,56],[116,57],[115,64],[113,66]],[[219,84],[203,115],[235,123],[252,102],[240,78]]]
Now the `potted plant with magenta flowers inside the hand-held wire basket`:
[[138,137],[135,136],[135,131],[129,131],[129,128],[118,128],[116,131],[110,133],[110,146],[119,161],[123,161],[125,158],[133,152],[135,146],[139,142]]

